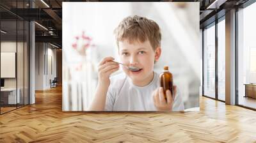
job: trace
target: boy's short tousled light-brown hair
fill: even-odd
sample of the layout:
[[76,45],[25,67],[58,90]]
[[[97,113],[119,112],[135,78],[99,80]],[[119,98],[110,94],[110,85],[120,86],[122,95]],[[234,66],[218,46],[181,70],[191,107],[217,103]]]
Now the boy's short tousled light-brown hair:
[[144,42],[148,40],[156,50],[161,46],[161,31],[159,26],[153,20],[137,15],[133,17],[126,17],[114,31],[116,37],[116,44],[119,47],[119,41],[128,40],[129,43],[133,41]]

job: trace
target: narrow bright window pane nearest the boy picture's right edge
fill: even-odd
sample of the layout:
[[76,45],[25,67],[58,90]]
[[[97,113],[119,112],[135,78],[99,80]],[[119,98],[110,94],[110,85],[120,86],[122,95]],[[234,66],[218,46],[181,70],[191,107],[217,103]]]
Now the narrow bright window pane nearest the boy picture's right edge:
[[204,95],[215,98],[215,26],[204,29]]

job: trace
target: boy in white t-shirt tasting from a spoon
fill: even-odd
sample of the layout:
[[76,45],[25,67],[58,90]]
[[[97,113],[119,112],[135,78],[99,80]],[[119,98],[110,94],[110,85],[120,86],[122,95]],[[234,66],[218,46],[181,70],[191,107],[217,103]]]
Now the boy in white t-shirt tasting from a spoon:
[[174,96],[159,87],[159,75],[154,63],[161,55],[161,32],[153,20],[145,17],[127,17],[115,29],[123,73],[109,79],[119,69],[113,57],[105,57],[99,64],[99,82],[89,110],[93,111],[182,111],[184,105],[174,86]]

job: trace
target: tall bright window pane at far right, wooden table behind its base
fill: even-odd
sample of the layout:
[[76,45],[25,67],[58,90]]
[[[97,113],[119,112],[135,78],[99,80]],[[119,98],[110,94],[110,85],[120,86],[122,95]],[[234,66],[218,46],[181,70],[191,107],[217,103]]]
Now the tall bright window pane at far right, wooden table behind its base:
[[238,11],[238,104],[256,109],[256,3]]

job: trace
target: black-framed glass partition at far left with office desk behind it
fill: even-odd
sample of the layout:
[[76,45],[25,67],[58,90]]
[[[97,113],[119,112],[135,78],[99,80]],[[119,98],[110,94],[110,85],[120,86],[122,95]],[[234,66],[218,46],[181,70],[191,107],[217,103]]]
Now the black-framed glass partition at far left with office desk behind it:
[[[28,2],[12,1],[11,7],[13,10],[27,8]],[[4,3],[8,1],[0,2]],[[3,8],[0,8],[0,11],[6,13],[0,15],[0,71],[3,82],[0,92],[0,114],[3,114],[29,103],[29,22]],[[12,64],[14,66],[11,66]],[[5,67],[11,70],[6,70]]]

